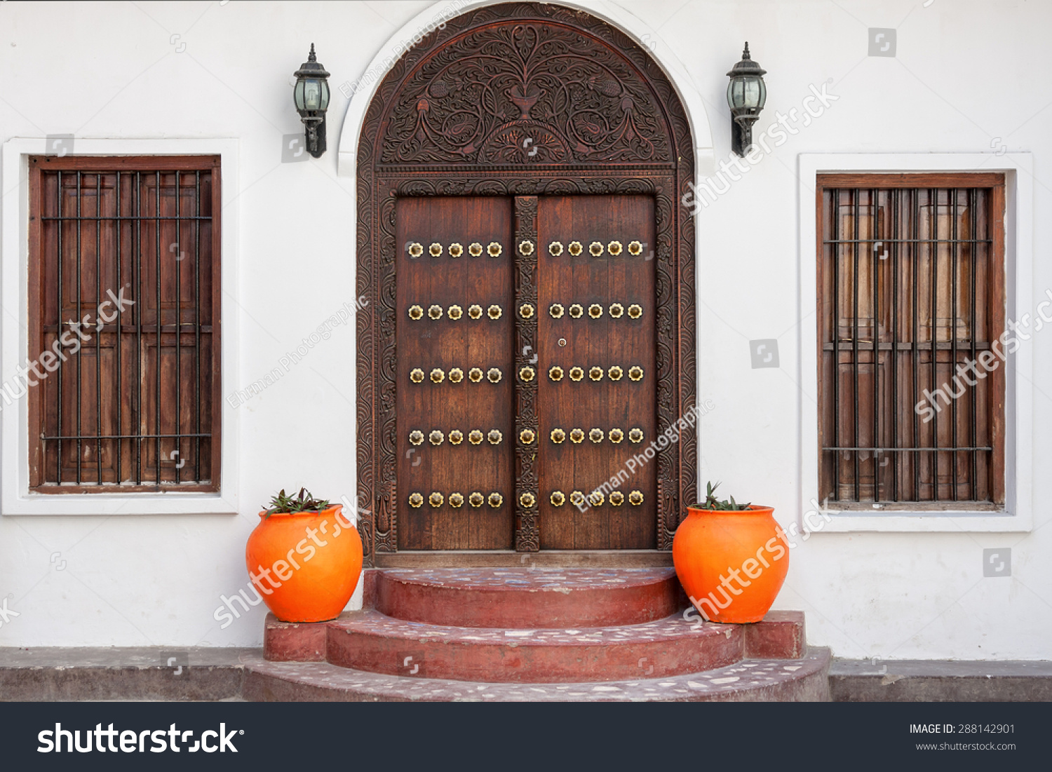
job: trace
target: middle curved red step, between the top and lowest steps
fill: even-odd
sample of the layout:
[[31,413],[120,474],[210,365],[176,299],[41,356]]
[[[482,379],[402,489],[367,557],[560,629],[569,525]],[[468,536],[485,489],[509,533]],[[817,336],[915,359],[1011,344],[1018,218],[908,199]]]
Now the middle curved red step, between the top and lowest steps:
[[497,630],[364,611],[328,623],[326,641],[326,659],[340,667],[485,683],[656,678],[723,668],[743,655],[741,626],[682,614],[642,625]]

